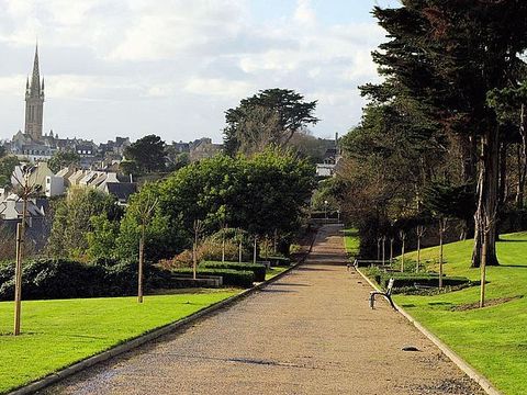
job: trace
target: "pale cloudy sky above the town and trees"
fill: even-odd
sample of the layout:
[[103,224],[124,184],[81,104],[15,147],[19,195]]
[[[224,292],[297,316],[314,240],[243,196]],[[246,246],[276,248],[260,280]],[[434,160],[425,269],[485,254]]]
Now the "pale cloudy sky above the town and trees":
[[38,41],[44,133],[221,142],[224,112],[269,88],[317,100],[318,137],[360,120],[395,0],[0,0],[0,139],[24,127]]

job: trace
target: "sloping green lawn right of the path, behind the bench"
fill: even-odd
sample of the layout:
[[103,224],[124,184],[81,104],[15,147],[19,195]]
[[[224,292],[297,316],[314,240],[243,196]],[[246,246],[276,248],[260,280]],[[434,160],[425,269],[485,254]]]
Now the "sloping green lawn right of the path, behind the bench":
[[[497,244],[501,267],[489,268],[486,300],[519,296],[485,308],[452,311],[476,303],[480,287],[436,296],[396,295],[395,301],[463,359],[484,374],[504,394],[527,394],[527,233],[502,236]],[[470,269],[472,240],[445,246],[448,275],[479,279]],[[422,251],[436,261],[438,248]],[[416,253],[407,258],[416,259]],[[429,269],[437,270],[430,263]]]

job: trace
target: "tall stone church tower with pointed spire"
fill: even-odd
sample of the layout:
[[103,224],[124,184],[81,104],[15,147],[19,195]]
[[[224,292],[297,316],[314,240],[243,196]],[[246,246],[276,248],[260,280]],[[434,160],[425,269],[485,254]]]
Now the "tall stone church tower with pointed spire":
[[44,79],[42,79],[41,83],[41,71],[38,69],[38,46],[36,46],[31,84],[29,77],[27,82],[25,83],[25,134],[35,142],[42,138],[43,115]]

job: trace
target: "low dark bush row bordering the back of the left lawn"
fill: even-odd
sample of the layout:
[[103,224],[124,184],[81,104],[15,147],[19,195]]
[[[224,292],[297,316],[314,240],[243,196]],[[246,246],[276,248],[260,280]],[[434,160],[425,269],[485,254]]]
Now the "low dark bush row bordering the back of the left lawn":
[[[145,290],[166,286],[169,273],[145,266]],[[137,292],[137,262],[87,264],[37,259],[22,268],[23,300],[125,296]],[[0,300],[14,297],[14,262],[0,267]]]

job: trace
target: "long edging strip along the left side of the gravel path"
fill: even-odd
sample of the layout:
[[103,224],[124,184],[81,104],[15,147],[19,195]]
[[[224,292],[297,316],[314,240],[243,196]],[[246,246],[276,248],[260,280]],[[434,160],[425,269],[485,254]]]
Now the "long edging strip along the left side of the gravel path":
[[43,390],[52,384],[55,384],[70,375],[74,375],[75,373],[78,373],[85,369],[88,369],[90,366],[93,366],[94,364],[97,363],[100,363],[100,362],[103,362],[103,361],[108,361],[109,359],[113,358],[113,357],[116,357],[116,356],[120,356],[126,351],[131,351],[139,346],[143,346],[145,345],[146,342],[148,341],[152,341],[152,340],[155,340],[164,335],[167,335],[167,334],[170,334],[172,331],[176,331],[178,329],[181,329],[182,327],[189,325],[189,324],[192,324],[194,321],[197,321],[198,319],[200,318],[203,318],[205,316],[209,316],[213,313],[216,313],[217,311],[224,308],[224,307],[227,307],[251,294],[254,294],[255,292],[257,291],[260,291],[262,289],[265,289],[267,285],[273,283],[274,281],[277,280],[280,280],[281,278],[283,278],[284,275],[289,274],[292,270],[294,270],[295,268],[298,268],[299,266],[301,266],[302,263],[304,263],[305,259],[307,258],[307,256],[310,255],[312,248],[313,248],[313,245],[315,242],[315,238],[316,238],[316,235],[315,237],[313,237],[313,240],[311,241],[311,245],[310,245],[310,248],[307,250],[307,252],[305,253],[304,257],[302,257],[300,259],[299,262],[292,264],[291,267],[289,267],[288,269],[285,269],[283,272],[274,275],[273,278],[269,279],[269,280],[266,280],[261,283],[258,283],[256,285],[254,285],[253,287],[248,289],[248,290],[245,290],[245,291],[242,291],[240,293],[236,294],[236,295],[233,295],[231,297],[227,297],[226,300],[223,300],[223,301],[220,301],[220,302],[216,302],[199,312],[195,312],[184,318],[181,318],[177,321],[173,321],[171,324],[168,324],[168,325],[165,325],[165,326],[161,326],[161,327],[158,327],[158,328],[155,328],[144,335],[141,335],[136,338],[133,338],[128,341],[126,341],[125,343],[122,343],[122,345],[119,345],[119,346],[115,346],[115,347],[112,347],[110,348],[109,350],[106,351],[102,351],[96,356],[92,356],[92,357],[89,357],[80,362],[77,362],[77,363],[74,363],[65,369],[61,369],[59,370],[58,372],[55,372],[55,373],[52,373],[51,375],[47,375],[45,376],[44,379],[41,379],[41,380],[37,380],[33,383],[30,383],[27,385],[24,385],[18,390],[14,390],[12,392],[9,392],[8,394],[9,395],[26,395],[26,394],[34,394],[35,392],[40,391],[40,390]]

